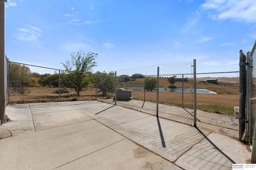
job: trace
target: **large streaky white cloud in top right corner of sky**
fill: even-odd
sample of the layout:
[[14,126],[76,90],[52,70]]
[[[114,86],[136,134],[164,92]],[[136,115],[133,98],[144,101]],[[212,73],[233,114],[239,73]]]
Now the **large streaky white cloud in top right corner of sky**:
[[214,20],[256,22],[255,0],[206,0],[202,9],[210,12]]

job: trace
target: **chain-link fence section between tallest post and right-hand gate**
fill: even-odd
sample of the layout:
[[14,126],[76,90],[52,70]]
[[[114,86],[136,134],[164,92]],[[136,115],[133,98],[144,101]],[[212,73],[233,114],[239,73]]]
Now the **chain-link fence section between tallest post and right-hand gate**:
[[239,71],[198,73],[196,76],[197,109],[234,115],[234,107],[239,107]]

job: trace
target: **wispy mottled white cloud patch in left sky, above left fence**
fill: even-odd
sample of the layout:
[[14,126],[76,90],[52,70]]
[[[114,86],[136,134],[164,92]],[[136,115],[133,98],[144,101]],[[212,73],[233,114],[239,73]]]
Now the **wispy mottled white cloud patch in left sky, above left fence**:
[[32,42],[39,44],[39,37],[41,37],[41,34],[39,33],[41,29],[28,26],[28,28],[18,28],[18,33],[14,34],[14,37],[20,41],[26,41],[26,42]]

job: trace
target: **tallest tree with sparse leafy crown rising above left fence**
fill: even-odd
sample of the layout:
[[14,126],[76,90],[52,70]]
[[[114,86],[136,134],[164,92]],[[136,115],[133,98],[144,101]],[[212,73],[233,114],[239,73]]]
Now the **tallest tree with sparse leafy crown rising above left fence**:
[[[86,72],[92,71],[94,66],[97,66],[95,57],[98,54],[96,53],[88,53],[85,55],[83,51],[78,51],[70,54],[71,61],[66,61],[66,64],[62,63],[66,71],[68,72],[66,75],[66,84],[67,87],[70,87],[76,91],[77,96],[80,96],[80,92],[88,88],[91,84],[91,76],[90,74],[86,74]],[[72,69],[74,67],[74,69]]]

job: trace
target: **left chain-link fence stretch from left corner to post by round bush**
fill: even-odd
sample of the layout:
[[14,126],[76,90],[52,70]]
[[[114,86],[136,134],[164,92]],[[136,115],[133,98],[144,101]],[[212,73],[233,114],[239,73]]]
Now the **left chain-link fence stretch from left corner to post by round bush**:
[[[95,100],[96,74],[9,62],[8,103]],[[114,81],[114,79],[112,78]],[[96,93],[97,92],[97,93]]]

